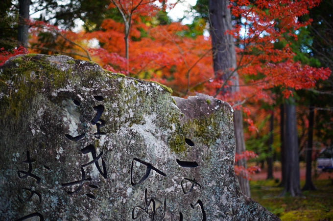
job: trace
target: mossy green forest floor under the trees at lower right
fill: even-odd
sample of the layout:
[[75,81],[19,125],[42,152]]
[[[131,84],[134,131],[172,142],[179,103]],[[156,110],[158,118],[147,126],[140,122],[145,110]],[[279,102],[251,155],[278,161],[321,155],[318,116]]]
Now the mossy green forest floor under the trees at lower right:
[[[333,172],[312,169],[312,181],[317,190],[303,191],[303,197],[279,195],[283,187],[281,166],[274,164],[274,179],[266,180],[267,170],[251,175],[251,198],[258,201],[282,221],[333,221]],[[305,184],[305,164],[300,163],[301,188]]]

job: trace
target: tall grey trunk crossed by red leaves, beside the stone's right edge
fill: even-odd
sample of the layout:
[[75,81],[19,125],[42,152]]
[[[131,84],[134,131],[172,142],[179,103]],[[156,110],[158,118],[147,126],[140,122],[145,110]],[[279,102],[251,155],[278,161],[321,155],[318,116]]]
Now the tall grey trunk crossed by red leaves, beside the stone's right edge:
[[[232,72],[236,68],[236,51],[233,36],[226,31],[232,29],[231,13],[228,7],[228,0],[209,0],[209,16],[211,21],[211,36],[213,47],[214,74],[222,80],[232,80],[231,88],[223,88],[222,93],[227,91],[238,92],[238,74]],[[223,74],[223,75],[221,75]],[[232,76],[231,76],[232,75]],[[236,153],[241,154],[245,151],[245,142],[243,134],[243,118],[241,110],[234,112],[234,127],[236,138]],[[246,161],[238,161],[239,165],[246,168]],[[247,179],[238,176],[241,191],[250,197],[250,185]]]

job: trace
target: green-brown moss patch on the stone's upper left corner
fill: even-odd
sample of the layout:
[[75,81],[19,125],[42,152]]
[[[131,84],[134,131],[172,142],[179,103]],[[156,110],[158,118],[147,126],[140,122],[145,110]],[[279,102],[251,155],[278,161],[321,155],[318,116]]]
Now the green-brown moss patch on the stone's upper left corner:
[[51,88],[60,88],[65,85],[70,77],[71,69],[60,71],[46,61],[48,56],[39,60],[31,59],[33,56],[21,56],[11,60],[18,65],[12,68],[5,68],[0,75],[2,81],[12,81],[12,85],[0,86],[0,93],[9,96],[3,96],[0,100],[1,105],[6,105],[6,112],[2,113],[1,118],[13,116],[17,118],[24,110],[27,102],[33,98],[38,90],[44,85],[44,80],[48,79]]

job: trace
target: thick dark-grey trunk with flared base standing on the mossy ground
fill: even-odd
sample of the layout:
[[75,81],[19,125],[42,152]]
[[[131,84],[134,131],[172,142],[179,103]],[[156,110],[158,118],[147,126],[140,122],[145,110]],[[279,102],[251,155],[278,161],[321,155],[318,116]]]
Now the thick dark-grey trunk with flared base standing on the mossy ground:
[[291,196],[302,196],[300,187],[300,170],[298,159],[298,135],[296,125],[296,106],[294,99],[290,98],[291,104],[285,105],[285,188],[281,195],[289,192]]

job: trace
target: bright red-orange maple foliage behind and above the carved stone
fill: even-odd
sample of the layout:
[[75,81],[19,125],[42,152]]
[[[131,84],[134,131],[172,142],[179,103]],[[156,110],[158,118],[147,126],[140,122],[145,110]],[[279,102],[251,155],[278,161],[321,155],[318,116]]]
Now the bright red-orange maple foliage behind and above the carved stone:
[[[191,36],[189,26],[180,22],[161,24],[158,11],[165,8],[152,2],[111,0],[109,10],[119,9],[123,20],[105,18],[101,28],[94,32],[75,33],[31,21],[30,52],[92,59],[107,70],[166,84],[173,89],[174,96],[187,97],[200,92],[226,100],[243,110],[250,133],[258,132],[254,122],[258,119],[251,116],[258,107],[254,109],[246,103],[272,105],[277,97],[288,98],[293,90],[311,88],[317,80],[325,80],[331,74],[328,68],[314,68],[293,60],[292,41],[297,40],[298,30],[311,22],[299,22],[298,18],[309,13],[309,8],[317,6],[320,0],[257,0],[255,4],[250,0],[232,0],[234,29],[226,34],[233,35],[236,42],[238,65],[232,71],[238,73],[240,90],[237,94],[223,95],[216,95],[216,91],[222,86],[230,87],[232,81],[223,82],[219,78],[223,73],[214,75],[210,37]],[[200,21],[194,29],[203,33],[209,24]],[[6,53],[1,51],[0,62],[11,55]],[[14,54],[18,53],[25,52],[22,48],[14,50]],[[277,94],[272,88],[280,88],[282,92]],[[255,157],[253,152],[245,152],[236,155],[235,161]],[[236,166],[235,172],[248,177],[249,172],[257,169],[253,167],[246,172]]]

